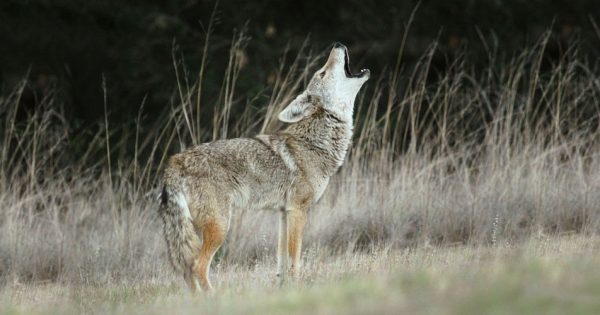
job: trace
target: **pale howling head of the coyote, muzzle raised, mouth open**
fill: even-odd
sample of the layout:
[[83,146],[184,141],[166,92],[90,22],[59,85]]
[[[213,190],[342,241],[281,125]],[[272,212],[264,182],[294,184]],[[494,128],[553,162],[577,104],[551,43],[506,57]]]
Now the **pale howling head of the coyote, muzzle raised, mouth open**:
[[347,122],[352,121],[354,99],[370,72],[350,71],[350,58],[346,46],[335,43],[325,65],[317,70],[308,86],[280,114],[283,122],[297,122],[310,115],[316,104],[333,112]]

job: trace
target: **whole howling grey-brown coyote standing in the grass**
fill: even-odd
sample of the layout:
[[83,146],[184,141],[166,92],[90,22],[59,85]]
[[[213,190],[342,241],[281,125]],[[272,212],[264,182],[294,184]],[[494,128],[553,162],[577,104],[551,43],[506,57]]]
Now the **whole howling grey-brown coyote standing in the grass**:
[[159,211],[171,263],[192,291],[212,290],[211,261],[240,208],[279,210],[277,275],[285,281],[288,255],[289,272],[298,275],[307,209],[344,162],[354,100],[369,76],[366,69],[352,73],[348,50],[336,43],[306,90],[279,114],[286,129],[201,144],[169,159]]

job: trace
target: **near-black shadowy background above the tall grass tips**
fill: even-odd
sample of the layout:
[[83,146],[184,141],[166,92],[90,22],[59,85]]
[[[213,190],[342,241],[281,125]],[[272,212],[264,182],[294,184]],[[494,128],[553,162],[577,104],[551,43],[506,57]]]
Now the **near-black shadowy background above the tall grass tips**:
[[[393,66],[416,5],[391,0],[221,1],[207,55],[204,104],[218,97],[236,30],[245,27],[250,37],[237,88],[243,98],[265,87],[268,91],[269,74],[285,48],[293,55],[307,37],[315,52],[334,41],[345,43],[354,69],[368,66],[381,74]],[[174,43],[186,67],[197,72],[214,8],[213,1],[202,0],[3,0],[1,92],[26,78],[20,106],[27,117],[52,91],[52,104],[77,130],[104,117],[104,75],[111,121],[132,123],[144,98],[146,121],[152,121],[174,100]],[[596,58],[600,40],[591,21],[598,13],[597,0],[424,0],[409,32],[403,65],[410,67],[437,40],[432,71],[444,71],[456,53],[466,53],[477,67],[486,61],[481,36],[511,56],[547,30],[553,34],[550,60],[574,40],[585,56]]]

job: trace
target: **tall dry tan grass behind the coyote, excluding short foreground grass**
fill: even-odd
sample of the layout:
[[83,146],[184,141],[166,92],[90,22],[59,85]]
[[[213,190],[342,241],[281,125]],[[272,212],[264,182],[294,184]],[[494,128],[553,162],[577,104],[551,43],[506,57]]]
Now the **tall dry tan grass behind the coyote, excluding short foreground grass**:
[[[512,58],[488,48],[482,68],[463,54],[441,73],[433,45],[414,67],[374,76],[357,100],[348,161],[310,213],[308,256],[596,233],[600,72],[575,45],[549,62],[549,38]],[[232,42],[211,126],[197,117],[202,82],[219,78],[204,76],[204,62],[197,77],[174,63],[178,89],[164,119],[118,140],[107,120],[83,153],[72,153],[84,139],[52,95],[27,119],[17,118],[26,83],[0,98],[0,279],[168,278],[153,193],[166,158],[279,128],[276,114],[320,61],[307,45],[291,62],[286,53],[259,104],[236,90],[248,44],[243,34]],[[132,145],[133,158],[116,158]],[[268,211],[236,213],[218,263],[273,260],[274,220]]]

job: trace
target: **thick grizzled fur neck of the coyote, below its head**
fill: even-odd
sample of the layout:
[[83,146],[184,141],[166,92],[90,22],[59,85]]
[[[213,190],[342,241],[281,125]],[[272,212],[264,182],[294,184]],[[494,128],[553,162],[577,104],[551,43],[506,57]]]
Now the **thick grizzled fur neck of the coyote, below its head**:
[[[345,121],[322,107],[283,131],[296,158],[314,164],[326,176],[343,164],[352,141],[352,121]],[[293,150],[293,147],[298,147]],[[304,153],[306,152],[306,153]]]

